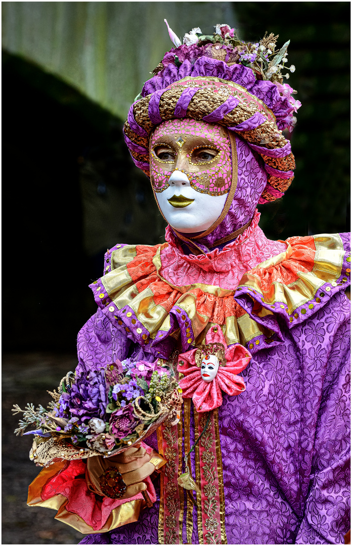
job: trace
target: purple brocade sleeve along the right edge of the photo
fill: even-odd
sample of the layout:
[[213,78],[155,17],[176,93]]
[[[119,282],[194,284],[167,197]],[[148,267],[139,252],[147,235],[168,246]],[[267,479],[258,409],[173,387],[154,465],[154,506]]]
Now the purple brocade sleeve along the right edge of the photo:
[[309,492],[296,544],[341,544],[350,527],[349,326],[336,331],[316,426]]

